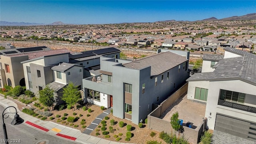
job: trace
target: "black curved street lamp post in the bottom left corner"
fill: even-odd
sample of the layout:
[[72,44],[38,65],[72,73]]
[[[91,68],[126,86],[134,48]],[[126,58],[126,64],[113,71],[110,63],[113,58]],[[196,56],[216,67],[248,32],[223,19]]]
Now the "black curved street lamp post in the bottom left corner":
[[[8,106],[7,108],[15,108],[14,106]],[[4,111],[7,109],[7,108],[5,108],[4,109]],[[7,113],[4,113],[4,111],[3,111],[3,113],[2,113],[2,118],[3,118],[3,130],[4,130],[4,141],[5,141],[5,143],[6,144],[9,144],[9,142],[8,142],[8,136],[7,136],[7,131],[6,131],[6,125],[5,125],[5,123],[4,123],[4,115],[5,114],[14,114],[15,113],[15,115],[14,115],[14,119],[12,120],[12,122],[11,122],[11,124],[12,125],[17,125],[17,124],[21,124],[22,123],[22,120],[21,120],[21,118],[20,118],[20,116],[17,114],[17,109],[15,108],[15,110],[16,110],[16,112],[7,112]],[[9,116],[9,115],[8,115]],[[8,118],[8,116],[6,117],[6,118]]]

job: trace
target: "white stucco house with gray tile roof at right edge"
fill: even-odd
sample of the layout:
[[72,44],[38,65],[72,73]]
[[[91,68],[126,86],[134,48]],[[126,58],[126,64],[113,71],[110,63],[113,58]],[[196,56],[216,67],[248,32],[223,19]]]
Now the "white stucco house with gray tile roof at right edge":
[[255,141],[256,55],[230,47],[224,50],[224,58],[212,67],[215,70],[187,79],[187,98],[206,102],[209,129]]

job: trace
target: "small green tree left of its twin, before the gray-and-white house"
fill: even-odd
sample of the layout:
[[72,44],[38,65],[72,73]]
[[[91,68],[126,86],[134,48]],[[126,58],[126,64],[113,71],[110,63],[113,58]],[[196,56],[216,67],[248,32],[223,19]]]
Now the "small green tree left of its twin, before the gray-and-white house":
[[51,110],[54,102],[56,102],[56,98],[54,97],[54,90],[50,88],[49,85],[46,85],[43,90],[39,91],[39,101],[42,105]]

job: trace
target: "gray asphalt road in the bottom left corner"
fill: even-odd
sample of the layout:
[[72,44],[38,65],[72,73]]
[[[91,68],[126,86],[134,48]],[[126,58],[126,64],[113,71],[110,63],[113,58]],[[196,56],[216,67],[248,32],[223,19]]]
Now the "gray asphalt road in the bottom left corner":
[[[2,115],[2,112],[4,110],[3,106],[0,106],[0,114]],[[5,116],[8,116],[6,114]],[[3,122],[2,122],[2,116],[0,118],[0,143],[4,144],[4,130],[3,130]],[[25,124],[19,124],[12,126],[11,125],[12,119],[11,118],[5,118],[4,123],[6,124],[6,130],[8,139],[17,139],[20,140],[20,142],[15,142],[18,144],[38,144],[41,140],[45,140],[48,144],[74,144],[75,142],[70,142],[68,140],[64,140],[62,138],[58,138],[55,136],[51,136],[48,134],[45,134],[43,132],[40,132],[39,130],[36,130],[34,128],[30,128],[29,126],[26,126]],[[14,143],[14,142],[13,142]],[[47,144],[46,143],[46,144]],[[10,143],[9,141],[9,144]]]

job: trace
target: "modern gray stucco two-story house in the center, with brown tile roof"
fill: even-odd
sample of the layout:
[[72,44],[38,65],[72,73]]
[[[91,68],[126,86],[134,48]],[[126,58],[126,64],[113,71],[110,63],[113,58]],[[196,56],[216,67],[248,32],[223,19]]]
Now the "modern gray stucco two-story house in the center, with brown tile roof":
[[83,79],[84,100],[113,107],[114,116],[138,124],[189,77],[189,53],[174,52],[134,62],[100,57],[101,74]]

